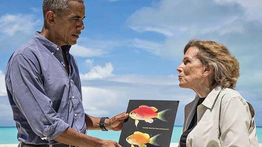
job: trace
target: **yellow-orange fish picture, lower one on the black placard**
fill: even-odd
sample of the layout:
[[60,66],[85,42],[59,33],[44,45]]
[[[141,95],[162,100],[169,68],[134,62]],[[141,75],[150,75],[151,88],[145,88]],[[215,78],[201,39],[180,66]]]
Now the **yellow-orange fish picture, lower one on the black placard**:
[[148,134],[136,131],[134,132],[134,134],[128,136],[126,140],[129,144],[131,144],[131,147],[135,147],[134,145],[138,145],[139,147],[146,147],[146,143],[150,143],[155,146],[160,146],[156,142],[156,138],[160,135],[162,134],[158,134],[150,138]]

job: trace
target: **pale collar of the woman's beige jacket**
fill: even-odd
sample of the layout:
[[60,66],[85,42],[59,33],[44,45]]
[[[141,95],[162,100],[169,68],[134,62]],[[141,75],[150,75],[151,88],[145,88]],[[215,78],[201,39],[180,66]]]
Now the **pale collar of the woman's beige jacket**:
[[[205,98],[204,102],[202,102],[202,105],[204,105],[207,108],[211,109],[213,107],[213,104],[216,102],[216,98],[218,97],[218,94],[219,94],[220,91],[221,91],[221,86],[220,85],[218,85],[215,88],[213,88],[212,91]],[[196,97],[199,98],[198,95]]]

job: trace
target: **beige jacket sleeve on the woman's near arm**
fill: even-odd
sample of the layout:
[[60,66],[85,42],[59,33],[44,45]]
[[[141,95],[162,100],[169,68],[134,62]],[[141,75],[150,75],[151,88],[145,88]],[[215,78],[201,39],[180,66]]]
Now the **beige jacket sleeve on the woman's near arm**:
[[224,147],[250,146],[250,120],[242,102],[238,98],[229,99],[221,109],[220,142]]

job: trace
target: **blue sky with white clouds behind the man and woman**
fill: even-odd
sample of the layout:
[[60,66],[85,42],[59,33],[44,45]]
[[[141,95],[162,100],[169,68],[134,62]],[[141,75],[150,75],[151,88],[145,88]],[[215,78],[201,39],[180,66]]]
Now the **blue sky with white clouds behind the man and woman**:
[[[40,31],[42,1],[1,0],[0,126],[14,126],[4,86],[13,51]],[[195,93],[178,86],[176,67],[190,39],[226,45],[240,62],[236,90],[262,126],[261,0],[85,0],[85,30],[70,53],[79,65],[83,105],[92,116],[114,116],[129,99],[179,100],[175,125]]]

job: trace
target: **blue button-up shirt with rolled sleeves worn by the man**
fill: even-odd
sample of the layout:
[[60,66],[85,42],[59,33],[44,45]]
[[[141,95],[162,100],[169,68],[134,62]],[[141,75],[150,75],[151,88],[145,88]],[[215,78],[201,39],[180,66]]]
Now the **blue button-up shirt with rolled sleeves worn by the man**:
[[70,47],[60,48],[36,32],[10,57],[5,82],[19,141],[56,144],[53,139],[68,127],[86,133],[79,71]]

